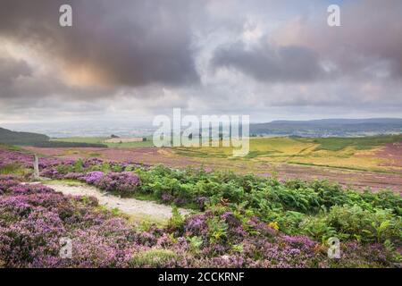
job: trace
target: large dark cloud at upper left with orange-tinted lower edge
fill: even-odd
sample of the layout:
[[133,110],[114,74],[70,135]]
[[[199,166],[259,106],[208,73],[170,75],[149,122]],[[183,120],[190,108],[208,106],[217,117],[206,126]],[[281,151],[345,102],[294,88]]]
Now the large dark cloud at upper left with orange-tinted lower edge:
[[[59,26],[71,4],[73,27]],[[0,37],[15,39],[107,85],[197,83],[188,1],[2,1]],[[96,74],[99,73],[99,74]]]

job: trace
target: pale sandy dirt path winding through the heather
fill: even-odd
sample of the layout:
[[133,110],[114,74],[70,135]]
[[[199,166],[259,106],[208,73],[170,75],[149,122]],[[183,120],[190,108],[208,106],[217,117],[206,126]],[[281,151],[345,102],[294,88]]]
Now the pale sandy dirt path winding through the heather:
[[[69,186],[63,184],[46,184],[55,191],[65,195],[88,196],[98,199],[99,204],[107,208],[118,208],[122,213],[138,218],[149,218],[153,221],[165,221],[172,216],[172,207],[156,204],[151,201],[138,200],[135,198],[119,198],[103,193],[91,186]],[[180,214],[189,214],[188,210],[179,209]]]

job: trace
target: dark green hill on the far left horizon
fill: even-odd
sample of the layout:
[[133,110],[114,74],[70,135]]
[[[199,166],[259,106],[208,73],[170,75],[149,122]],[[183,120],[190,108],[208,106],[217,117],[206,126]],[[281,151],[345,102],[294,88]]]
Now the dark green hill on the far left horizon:
[[34,147],[107,147],[105,144],[54,142],[44,134],[17,132],[0,127],[0,143]]

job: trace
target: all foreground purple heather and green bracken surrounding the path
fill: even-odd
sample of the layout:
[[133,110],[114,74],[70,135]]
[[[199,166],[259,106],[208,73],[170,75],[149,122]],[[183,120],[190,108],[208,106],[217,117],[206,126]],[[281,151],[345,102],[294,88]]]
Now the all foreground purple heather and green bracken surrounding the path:
[[[0,150],[29,170],[31,156]],[[21,159],[21,161],[19,161]],[[1,161],[3,162],[3,161]],[[25,162],[25,163],[24,163]],[[391,267],[400,263],[402,199],[328,181],[279,181],[232,172],[173,170],[97,158],[41,158],[41,176],[94,185],[113,195],[155,199],[173,211],[164,227],[133,226],[97,206],[25,176],[0,176],[0,264],[12,267]],[[71,238],[74,256],[58,256]],[[341,241],[341,259],[326,241]]]

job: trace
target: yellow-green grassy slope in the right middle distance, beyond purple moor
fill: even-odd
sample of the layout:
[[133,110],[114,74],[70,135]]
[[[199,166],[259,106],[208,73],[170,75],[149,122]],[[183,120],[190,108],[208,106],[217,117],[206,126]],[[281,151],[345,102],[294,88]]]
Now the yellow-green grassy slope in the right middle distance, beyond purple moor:
[[[387,172],[385,158],[373,153],[387,143],[401,142],[402,135],[364,138],[256,138],[250,139],[247,156],[239,162],[304,164],[373,172]],[[196,160],[230,158],[231,147],[177,147],[178,156]]]

